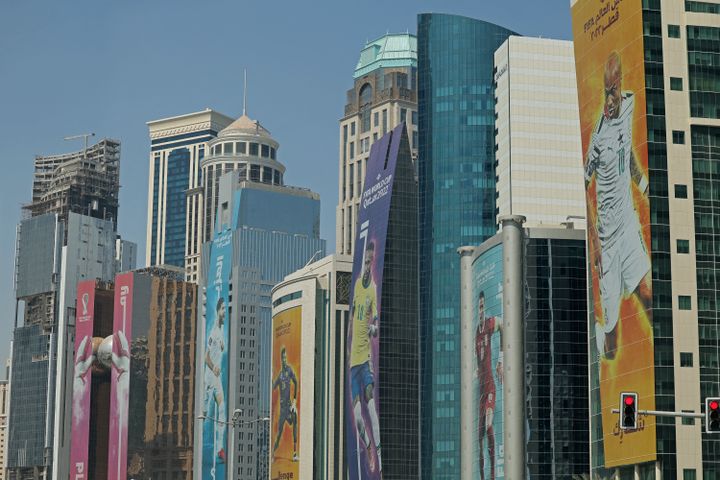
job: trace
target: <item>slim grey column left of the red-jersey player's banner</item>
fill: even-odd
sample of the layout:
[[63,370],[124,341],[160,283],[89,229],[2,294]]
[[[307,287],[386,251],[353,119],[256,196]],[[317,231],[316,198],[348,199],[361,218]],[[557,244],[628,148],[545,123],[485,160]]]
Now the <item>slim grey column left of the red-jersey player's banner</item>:
[[474,332],[473,332],[473,247],[460,247],[460,477],[472,478],[475,462],[473,444],[477,434],[473,406]]

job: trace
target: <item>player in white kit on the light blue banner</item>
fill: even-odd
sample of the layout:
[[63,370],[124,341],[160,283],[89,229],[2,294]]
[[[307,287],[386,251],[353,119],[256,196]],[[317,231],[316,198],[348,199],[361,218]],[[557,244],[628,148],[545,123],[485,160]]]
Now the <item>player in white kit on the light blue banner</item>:
[[225,352],[225,299],[220,297],[216,308],[216,321],[207,338],[205,347],[205,399],[203,401],[203,416],[207,418],[212,402],[217,404],[215,412],[217,418],[215,425],[215,445],[219,447],[218,459],[225,463],[225,422],[227,411],[225,407],[225,392],[220,379],[222,358]]

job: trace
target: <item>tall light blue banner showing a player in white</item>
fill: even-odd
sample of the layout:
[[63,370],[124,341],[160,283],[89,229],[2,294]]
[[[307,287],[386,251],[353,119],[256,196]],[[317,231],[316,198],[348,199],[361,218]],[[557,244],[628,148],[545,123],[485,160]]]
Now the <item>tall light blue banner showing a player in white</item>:
[[227,478],[228,347],[230,343],[230,271],[232,230],[215,236],[210,247],[202,354],[202,478]]

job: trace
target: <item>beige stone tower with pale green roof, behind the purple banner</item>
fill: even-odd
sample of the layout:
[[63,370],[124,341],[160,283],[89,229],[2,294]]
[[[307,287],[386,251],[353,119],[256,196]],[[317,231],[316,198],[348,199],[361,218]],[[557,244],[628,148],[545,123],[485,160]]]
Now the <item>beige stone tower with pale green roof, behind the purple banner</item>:
[[352,255],[357,212],[370,146],[405,122],[413,160],[417,158],[417,38],[388,34],[360,52],[353,88],[340,119],[336,251]]

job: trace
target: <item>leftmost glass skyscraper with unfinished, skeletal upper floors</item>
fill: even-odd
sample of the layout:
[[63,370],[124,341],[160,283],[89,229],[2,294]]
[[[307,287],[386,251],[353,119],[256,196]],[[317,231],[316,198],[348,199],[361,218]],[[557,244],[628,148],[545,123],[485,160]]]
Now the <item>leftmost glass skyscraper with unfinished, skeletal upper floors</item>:
[[17,228],[8,478],[68,476],[75,286],[115,274],[119,149],[106,139],[35,159],[31,217]]

